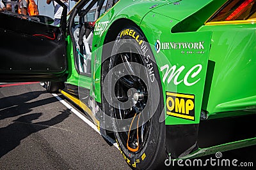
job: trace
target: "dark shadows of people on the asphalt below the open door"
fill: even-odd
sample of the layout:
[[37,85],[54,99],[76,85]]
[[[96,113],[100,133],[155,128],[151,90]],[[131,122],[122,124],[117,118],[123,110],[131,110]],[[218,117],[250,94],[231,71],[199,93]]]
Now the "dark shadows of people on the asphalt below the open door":
[[55,97],[49,97],[29,102],[45,93],[47,92],[26,92],[18,96],[8,96],[0,99],[0,121],[5,118],[20,116],[13,120],[13,124],[0,128],[0,158],[19,146],[22,139],[35,132],[59,124],[70,115],[70,110],[67,109],[60,111],[61,113],[51,118],[51,120],[33,124],[33,120],[37,120],[43,115],[43,113],[31,113],[28,115],[29,112],[33,111],[33,108],[58,101]]

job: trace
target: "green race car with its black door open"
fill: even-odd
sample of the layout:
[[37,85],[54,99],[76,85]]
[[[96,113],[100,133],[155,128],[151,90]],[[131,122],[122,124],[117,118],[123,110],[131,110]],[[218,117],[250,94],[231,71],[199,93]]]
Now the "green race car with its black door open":
[[0,13],[2,82],[45,81],[133,169],[256,144],[255,0],[56,2],[59,27]]

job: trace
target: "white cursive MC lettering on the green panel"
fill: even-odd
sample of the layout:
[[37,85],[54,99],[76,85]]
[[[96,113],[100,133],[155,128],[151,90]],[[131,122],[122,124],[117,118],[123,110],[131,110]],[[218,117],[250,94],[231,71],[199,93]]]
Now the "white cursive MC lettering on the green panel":
[[[174,85],[179,85],[183,82],[186,86],[192,86],[200,81],[201,78],[196,78],[196,76],[198,76],[198,74],[202,71],[201,64],[196,64],[195,66],[191,67],[191,69],[189,69],[189,71],[185,74],[184,78],[179,80],[179,75],[182,73],[182,71],[184,71],[184,69],[185,66],[180,66],[179,69],[177,69],[176,65],[173,65],[172,67],[170,67],[168,64],[162,66],[160,71],[164,74],[163,83],[166,81],[167,83],[170,83],[170,81],[173,80]],[[189,82],[188,78],[193,78],[193,81]]]

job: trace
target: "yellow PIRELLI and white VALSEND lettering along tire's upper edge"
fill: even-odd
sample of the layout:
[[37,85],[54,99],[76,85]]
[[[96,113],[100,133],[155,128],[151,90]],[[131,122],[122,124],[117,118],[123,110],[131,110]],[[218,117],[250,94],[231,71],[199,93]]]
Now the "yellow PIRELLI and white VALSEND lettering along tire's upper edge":
[[116,43],[120,43],[120,39],[122,36],[130,36],[132,39],[135,39],[138,45],[140,46],[141,52],[143,53],[143,57],[145,58],[145,66],[148,69],[148,74],[150,77],[150,81],[154,82],[155,80],[155,73],[154,73],[154,67],[152,63],[152,54],[150,53],[150,50],[148,50],[148,43],[143,41],[140,38],[140,35],[134,31],[133,29],[124,29],[120,35],[116,38]]

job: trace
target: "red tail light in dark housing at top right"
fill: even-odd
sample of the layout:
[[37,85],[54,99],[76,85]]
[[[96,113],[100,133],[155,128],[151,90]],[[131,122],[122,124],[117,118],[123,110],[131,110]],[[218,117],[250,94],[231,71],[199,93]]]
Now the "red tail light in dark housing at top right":
[[208,22],[248,20],[256,18],[256,0],[228,1]]

